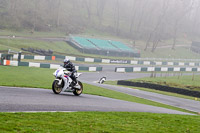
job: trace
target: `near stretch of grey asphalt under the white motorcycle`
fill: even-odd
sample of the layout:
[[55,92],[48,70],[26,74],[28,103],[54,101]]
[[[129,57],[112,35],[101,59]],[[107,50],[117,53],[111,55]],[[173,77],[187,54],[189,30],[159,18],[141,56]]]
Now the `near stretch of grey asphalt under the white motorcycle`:
[[70,93],[56,95],[48,89],[17,87],[0,87],[0,111],[129,111],[188,114],[100,96],[74,96]]

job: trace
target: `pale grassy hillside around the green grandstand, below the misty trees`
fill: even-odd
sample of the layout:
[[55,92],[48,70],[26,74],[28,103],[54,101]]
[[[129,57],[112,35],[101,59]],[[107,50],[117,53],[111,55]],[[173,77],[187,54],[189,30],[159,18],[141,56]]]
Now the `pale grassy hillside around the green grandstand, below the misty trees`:
[[[0,35],[4,35],[4,38],[0,38],[0,53],[7,53],[8,49],[14,51],[22,51],[21,48],[35,48],[35,49],[51,49],[54,51],[54,54],[59,55],[73,55],[73,56],[84,56],[84,57],[101,57],[101,58],[114,58],[114,59],[124,59],[124,57],[107,57],[107,56],[99,56],[99,55],[91,55],[81,53],[78,50],[71,47],[69,44],[63,41],[65,39],[63,33],[55,34],[55,33],[44,33],[38,32],[37,34],[29,35],[26,32],[8,32],[8,31],[1,31]],[[7,37],[8,35],[15,35],[13,37]],[[23,39],[18,38],[18,36],[24,36]],[[84,33],[82,36],[92,36],[91,33]],[[94,37],[94,34],[93,34]],[[133,47],[130,42],[130,39],[123,39],[116,36],[111,35],[102,35],[102,34],[95,34],[95,37],[100,39],[113,39],[117,41],[121,41],[130,47]],[[186,41],[185,41],[186,42]],[[190,42],[181,45],[182,42],[180,40],[180,46],[177,45],[175,50],[171,49],[171,45],[167,44],[166,42],[162,42],[155,52],[151,52],[151,47],[144,51],[145,42],[144,41],[136,41],[135,47],[140,50],[141,58],[182,58],[182,59],[199,59],[200,55],[193,53],[190,51]],[[184,47],[183,47],[184,46]],[[22,54],[32,54],[29,52],[22,51]],[[132,58],[128,58],[132,59]]]

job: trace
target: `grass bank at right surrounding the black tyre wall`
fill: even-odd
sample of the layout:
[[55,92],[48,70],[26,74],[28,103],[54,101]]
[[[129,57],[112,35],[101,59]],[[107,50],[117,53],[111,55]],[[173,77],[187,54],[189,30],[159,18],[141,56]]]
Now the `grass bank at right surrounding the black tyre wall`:
[[[200,75],[195,75],[194,77],[192,75],[191,76],[188,75],[188,76],[171,76],[171,77],[156,77],[156,78],[146,77],[146,78],[131,79],[128,81],[153,83],[153,84],[165,85],[165,86],[170,86],[170,87],[177,87],[177,88],[200,91],[200,87],[199,87],[200,80],[199,79],[200,79]],[[106,81],[105,83],[110,84],[110,85],[117,85],[117,81]],[[186,99],[200,101],[199,98],[192,97],[192,96],[185,96],[185,95],[181,95],[181,94],[153,90],[153,89],[142,88],[142,87],[131,87],[131,86],[128,86],[128,87],[134,88],[134,89],[139,89],[139,90],[144,90],[144,91],[149,91],[149,92],[154,92],[154,93],[159,93],[159,94],[164,94],[164,95],[169,95],[169,96],[176,96],[176,97],[180,97],[180,98],[186,98]]]

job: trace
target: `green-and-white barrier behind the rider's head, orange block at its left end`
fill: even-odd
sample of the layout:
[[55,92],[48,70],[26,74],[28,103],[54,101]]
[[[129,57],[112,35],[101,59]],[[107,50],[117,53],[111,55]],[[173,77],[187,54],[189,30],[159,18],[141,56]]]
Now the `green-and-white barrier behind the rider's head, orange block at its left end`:
[[[6,66],[27,66],[27,67],[38,67],[38,68],[50,68],[57,69],[60,65],[57,64],[44,64],[44,63],[35,63],[35,62],[18,62],[18,61],[10,61],[4,60],[3,65]],[[81,71],[102,71],[102,67],[85,67],[85,66],[75,66],[76,70]]]

